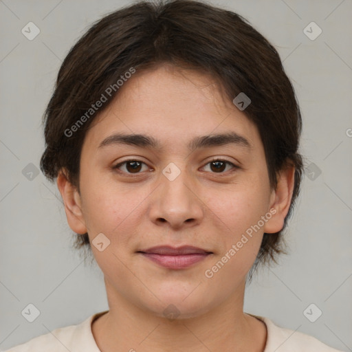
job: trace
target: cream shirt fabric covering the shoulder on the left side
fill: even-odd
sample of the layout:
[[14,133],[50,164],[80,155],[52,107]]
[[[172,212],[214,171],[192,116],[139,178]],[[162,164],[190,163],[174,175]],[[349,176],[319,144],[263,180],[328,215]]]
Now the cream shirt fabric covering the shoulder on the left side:
[[100,314],[89,316],[78,325],[55,329],[5,352],[100,352],[91,333],[91,322]]

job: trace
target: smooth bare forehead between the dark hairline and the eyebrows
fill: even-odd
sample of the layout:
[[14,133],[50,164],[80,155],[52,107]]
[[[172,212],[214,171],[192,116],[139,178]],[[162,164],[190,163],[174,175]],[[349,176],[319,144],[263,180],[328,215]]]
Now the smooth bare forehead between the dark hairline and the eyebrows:
[[[212,77],[162,65],[137,72],[98,115],[85,141],[96,148],[113,133],[155,136],[159,147],[184,144],[196,136],[234,132],[261,144],[256,126],[225,98]],[[258,146],[258,145],[257,145]]]

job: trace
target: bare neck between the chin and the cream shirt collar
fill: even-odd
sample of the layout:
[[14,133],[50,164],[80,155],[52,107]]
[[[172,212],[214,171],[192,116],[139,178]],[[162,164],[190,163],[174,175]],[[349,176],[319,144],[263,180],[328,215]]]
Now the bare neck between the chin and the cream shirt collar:
[[243,313],[244,285],[221,305],[171,320],[116,296],[106,284],[109,312],[91,327],[100,351],[264,351],[265,323]]

